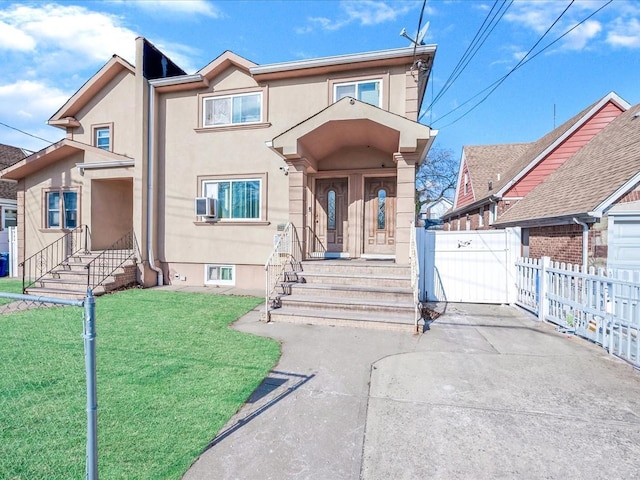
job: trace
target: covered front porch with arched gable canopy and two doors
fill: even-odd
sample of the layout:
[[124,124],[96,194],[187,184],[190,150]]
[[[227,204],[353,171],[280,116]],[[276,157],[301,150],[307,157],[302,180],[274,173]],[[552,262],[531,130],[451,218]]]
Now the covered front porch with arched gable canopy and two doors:
[[304,258],[408,264],[416,167],[435,133],[344,98],[274,138]]

